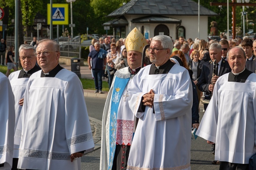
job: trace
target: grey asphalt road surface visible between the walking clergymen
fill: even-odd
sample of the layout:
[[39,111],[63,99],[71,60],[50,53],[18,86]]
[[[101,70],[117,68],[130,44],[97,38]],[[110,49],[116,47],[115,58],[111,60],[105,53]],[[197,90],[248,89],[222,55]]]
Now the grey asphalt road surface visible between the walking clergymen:
[[[105,105],[103,98],[86,98],[86,105],[89,117],[102,120],[102,112]],[[203,111],[203,106],[200,107]],[[200,121],[203,112],[200,112]],[[219,165],[213,165],[214,155],[211,151],[211,145],[206,140],[198,137],[191,141],[191,170],[218,170]],[[81,170],[99,170],[100,148],[84,155],[81,159]]]

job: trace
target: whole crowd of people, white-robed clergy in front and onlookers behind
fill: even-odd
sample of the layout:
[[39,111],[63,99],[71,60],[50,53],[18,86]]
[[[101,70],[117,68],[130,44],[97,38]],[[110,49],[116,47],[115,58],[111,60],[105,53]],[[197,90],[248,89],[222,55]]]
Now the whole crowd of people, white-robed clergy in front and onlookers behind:
[[[211,144],[220,170],[249,170],[256,153],[256,40],[224,38],[146,40],[135,27],[118,41],[92,40],[87,61],[95,93],[106,75],[110,88],[100,170],[190,170],[191,128]],[[23,69],[6,73],[8,79],[0,73],[7,96],[0,102],[0,168],[78,170],[94,148],[81,82],[59,58],[53,40],[24,44]]]

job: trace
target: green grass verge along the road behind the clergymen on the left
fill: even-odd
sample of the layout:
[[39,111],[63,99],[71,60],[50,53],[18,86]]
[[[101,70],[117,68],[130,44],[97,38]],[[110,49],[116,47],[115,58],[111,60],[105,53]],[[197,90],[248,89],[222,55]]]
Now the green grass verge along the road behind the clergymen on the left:
[[[3,74],[6,74],[7,66],[0,66],[0,72]],[[13,69],[11,69],[11,72],[13,72]],[[87,90],[95,90],[95,84],[94,80],[92,79],[80,79],[83,85],[83,89]],[[102,81],[102,91],[109,91],[109,85],[107,82]]]

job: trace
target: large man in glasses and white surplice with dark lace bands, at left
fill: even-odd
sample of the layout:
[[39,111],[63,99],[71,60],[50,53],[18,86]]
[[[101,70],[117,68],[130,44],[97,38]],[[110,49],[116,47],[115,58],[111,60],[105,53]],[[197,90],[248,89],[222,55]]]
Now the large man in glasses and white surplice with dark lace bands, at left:
[[36,55],[42,71],[30,76],[24,95],[18,168],[79,170],[80,157],[94,148],[81,81],[58,64],[57,42],[41,40]]

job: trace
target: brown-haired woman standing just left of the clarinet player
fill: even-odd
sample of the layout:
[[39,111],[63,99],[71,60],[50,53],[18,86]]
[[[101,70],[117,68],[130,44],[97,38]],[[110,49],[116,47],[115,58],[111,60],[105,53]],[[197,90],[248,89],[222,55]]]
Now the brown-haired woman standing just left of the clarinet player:
[[[199,64],[201,62],[201,60],[199,60],[199,51],[194,50],[191,53],[191,58],[192,59],[190,61],[188,61],[188,67],[190,70],[193,71],[192,80],[193,80],[194,84],[196,85],[198,83],[198,79],[201,74],[201,69],[199,69]],[[197,91],[198,99],[200,99],[201,91],[198,89],[197,86],[196,86],[196,91]],[[198,102],[199,102],[199,100],[198,100]]]

